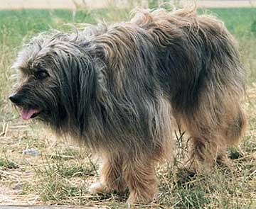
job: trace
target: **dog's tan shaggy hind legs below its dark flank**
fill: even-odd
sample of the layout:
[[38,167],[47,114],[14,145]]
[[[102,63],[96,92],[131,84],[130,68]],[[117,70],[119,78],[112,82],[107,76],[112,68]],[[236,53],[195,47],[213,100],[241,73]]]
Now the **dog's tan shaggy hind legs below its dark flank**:
[[208,171],[215,162],[225,162],[226,148],[239,142],[246,118],[238,103],[201,100],[188,114],[179,114],[191,136],[191,170]]

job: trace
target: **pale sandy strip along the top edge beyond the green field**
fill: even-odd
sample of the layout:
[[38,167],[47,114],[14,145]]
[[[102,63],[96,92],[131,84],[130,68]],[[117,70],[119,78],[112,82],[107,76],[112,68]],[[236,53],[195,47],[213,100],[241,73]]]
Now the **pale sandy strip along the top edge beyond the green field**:
[[[110,4],[110,2],[115,2],[117,5],[122,6],[124,1],[126,0],[1,0],[0,9],[75,9],[76,5],[102,8]],[[256,6],[256,0],[201,0],[198,1],[198,6],[203,8],[251,7]]]

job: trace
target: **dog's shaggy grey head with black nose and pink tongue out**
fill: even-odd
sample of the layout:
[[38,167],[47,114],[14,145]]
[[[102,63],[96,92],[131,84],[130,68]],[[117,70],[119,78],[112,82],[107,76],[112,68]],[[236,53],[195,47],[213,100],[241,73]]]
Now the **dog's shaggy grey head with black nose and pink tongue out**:
[[[95,86],[90,43],[78,35],[39,35],[18,54],[18,83],[9,99],[21,118],[40,118],[61,128],[84,126]],[[82,127],[81,127],[82,128]]]

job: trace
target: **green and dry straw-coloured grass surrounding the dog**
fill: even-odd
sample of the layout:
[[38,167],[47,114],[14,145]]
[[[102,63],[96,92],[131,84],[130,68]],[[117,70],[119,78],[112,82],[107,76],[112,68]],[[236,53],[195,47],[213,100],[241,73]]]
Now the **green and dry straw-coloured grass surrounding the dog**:
[[[213,173],[190,178],[178,166],[156,169],[159,194],[151,208],[256,208],[256,9],[211,9],[235,35],[247,69],[249,118],[240,147],[228,150],[233,168],[216,166]],[[7,96],[15,81],[9,69],[17,51],[29,38],[43,31],[70,30],[67,23],[125,20],[127,10],[0,11],[0,205],[83,205],[127,208],[127,194],[92,196],[87,188],[97,177],[97,159],[85,147],[56,139],[37,123],[24,123]],[[39,156],[23,154],[37,149]],[[182,180],[182,181],[181,181]],[[149,208],[149,205],[138,208]]]

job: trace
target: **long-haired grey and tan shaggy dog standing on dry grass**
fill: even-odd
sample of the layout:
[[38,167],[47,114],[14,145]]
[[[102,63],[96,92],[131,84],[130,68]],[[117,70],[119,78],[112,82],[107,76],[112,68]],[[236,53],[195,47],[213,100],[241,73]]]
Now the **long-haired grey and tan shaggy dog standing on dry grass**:
[[245,70],[233,36],[212,16],[137,10],[131,21],[38,35],[18,54],[9,98],[25,120],[100,154],[94,192],[129,203],[156,193],[154,166],[174,147],[174,121],[191,136],[191,162],[212,166],[245,130]]

